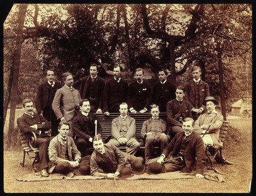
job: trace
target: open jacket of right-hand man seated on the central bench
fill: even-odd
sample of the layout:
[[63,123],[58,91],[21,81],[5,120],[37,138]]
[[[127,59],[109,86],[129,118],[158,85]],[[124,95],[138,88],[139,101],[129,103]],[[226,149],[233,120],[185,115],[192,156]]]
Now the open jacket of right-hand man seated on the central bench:
[[[160,135],[162,135],[162,133],[165,133],[165,135],[168,137],[168,139],[170,139],[171,136],[169,136],[169,128],[168,128],[166,122],[160,118],[159,118],[159,121],[160,121],[161,130],[154,132],[155,135],[160,136]],[[148,132],[152,132],[151,126],[152,126],[152,117],[143,122],[143,125],[141,128],[141,139],[145,139],[146,134]]]

